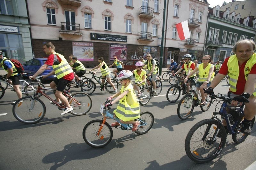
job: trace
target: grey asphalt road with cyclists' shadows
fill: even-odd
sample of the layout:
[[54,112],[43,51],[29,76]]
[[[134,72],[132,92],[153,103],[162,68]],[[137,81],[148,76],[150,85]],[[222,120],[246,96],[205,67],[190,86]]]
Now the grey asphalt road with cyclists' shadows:
[[[12,101],[17,96],[7,89],[0,100],[0,169],[245,169],[256,160],[254,126],[252,134],[241,144],[235,144],[228,135],[224,150],[213,161],[205,164],[191,161],[184,149],[185,137],[194,124],[212,116],[214,107],[207,112],[196,107],[189,119],[180,120],[178,102],[171,104],[166,100],[168,82],[163,82],[159,96],[140,107],[141,112],[150,111],[155,117],[148,133],[139,136],[131,130],[113,129],[110,144],[94,149],[84,142],[82,130],[87,122],[102,118],[100,104],[113,94],[101,92],[99,87],[91,95],[92,109],[83,116],[61,116],[56,106],[40,97],[46,105],[46,115],[33,125],[14,118]],[[74,87],[71,90],[79,91]],[[225,94],[228,85],[223,81],[214,91]],[[47,94],[53,98],[52,92]]]

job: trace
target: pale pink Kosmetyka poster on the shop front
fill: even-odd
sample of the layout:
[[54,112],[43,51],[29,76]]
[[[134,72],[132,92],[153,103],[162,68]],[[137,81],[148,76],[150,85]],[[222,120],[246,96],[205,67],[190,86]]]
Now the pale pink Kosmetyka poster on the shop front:
[[92,42],[72,42],[73,55],[79,61],[93,61]]

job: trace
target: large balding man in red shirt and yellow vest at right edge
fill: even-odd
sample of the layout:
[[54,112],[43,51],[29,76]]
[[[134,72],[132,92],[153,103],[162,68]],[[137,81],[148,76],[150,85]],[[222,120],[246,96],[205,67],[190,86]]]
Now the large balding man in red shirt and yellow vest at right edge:
[[[251,120],[256,115],[256,54],[253,52],[255,48],[256,45],[251,40],[238,41],[233,48],[236,54],[224,61],[210,87],[205,90],[205,93],[213,93],[213,88],[228,74],[231,82],[229,95],[233,98],[231,104],[236,106],[239,102],[250,101],[244,103],[245,116],[241,128],[244,134],[251,133],[251,124],[254,123]],[[226,126],[225,121],[223,125]]]

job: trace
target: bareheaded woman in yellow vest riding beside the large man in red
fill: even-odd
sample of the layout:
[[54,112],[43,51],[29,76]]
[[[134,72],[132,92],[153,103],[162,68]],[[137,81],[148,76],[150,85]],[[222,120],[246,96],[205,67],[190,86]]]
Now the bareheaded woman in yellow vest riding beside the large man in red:
[[187,82],[189,76],[193,75],[196,73],[196,71],[199,71],[199,79],[196,83],[196,88],[200,89],[201,93],[201,103],[200,105],[205,105],[205,94],[204,94],[204,89],[209,87],[211,85],[211,82],[214,77],[214,65],[211,64],[211,56],[210,55],[204,55],[202,59],[202,63],[199,64],[191,73],[188,74],[188,76],[184,79],[184,82]]

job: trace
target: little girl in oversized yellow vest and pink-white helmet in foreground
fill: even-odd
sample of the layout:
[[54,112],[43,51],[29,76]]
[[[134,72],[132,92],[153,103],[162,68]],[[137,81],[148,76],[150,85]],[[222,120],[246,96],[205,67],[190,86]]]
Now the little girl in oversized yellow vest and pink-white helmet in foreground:
[[[110,103],[107,103],[105,106],[112,106],[112,104],[119,101],[116,110],[114,110],[114,114],[117,118],[120,119],[121,123],[124,124],[133,124],[132,132],[135,132],[139,125],[139,121],[135,121],[135,119],[140,118],[140,104],[138,98],[133,90],[133,86],[131,84],[133,74],[129,70],[122,70],[118,74],[117,79],[122,83],[122,88],[120,92],[117,92],[113,96],[108,97],[108,100],[112,100]],[[114,122],[111,124],[111,127],[119,126],[118,122]]]

